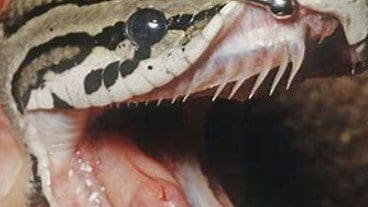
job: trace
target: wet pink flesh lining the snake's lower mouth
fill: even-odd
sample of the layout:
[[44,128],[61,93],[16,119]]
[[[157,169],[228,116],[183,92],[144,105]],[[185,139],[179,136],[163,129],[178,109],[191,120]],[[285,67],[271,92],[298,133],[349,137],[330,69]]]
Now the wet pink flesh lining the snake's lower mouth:
[[[181,121],[158,124],[167,128],[156,129],[149,123],[143,122],[142,128],[129,123],[135,122],[134,117],[130,120],[112,114],[106,116],[116,123],[105,126],[103,120],[97,120],[93,123],[97,130],[86,130],[73,140],[73,147],[60,148],[62,141],[54,140],[51,145],[50,140],[43,141],[48,145],[46,148],[54,149],[48,156],[49,187],[55,203],[63,206],[231,206],[220,185],[207,177],[203,160],[198,157],[202,133],[189,133]],[[63,150],[55,153],[56,148]]]

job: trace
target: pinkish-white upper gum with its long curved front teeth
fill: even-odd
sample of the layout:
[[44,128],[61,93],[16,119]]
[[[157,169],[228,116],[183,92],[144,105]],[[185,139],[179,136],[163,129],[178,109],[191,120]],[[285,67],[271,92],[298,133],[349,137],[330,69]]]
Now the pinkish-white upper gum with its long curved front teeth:
[[233,34],[233,37],[230,36],[229,40],[225,40],[227,41],[225,46],[219,46],[218,51],[211,56],[206,65],[195,72],[190,82],[182,83],[176,88],[173,102],[181,96],[184,96],[183,101],[186,101],[189,96],[198,91],[217,87],[212,98],[214,101],[229,83],[235,82],[229,95],[231,99],[246,80],[258,75],[249,94],[249,98],[252,98],[270,71],[278,67],[270,90],[270,95],[272,95],[288,70],[289,63],[292,64],[292,67],[287,89],[290,88],[305,57],[304,27],[303,25],[280,26],[276,23],[269,23],[268,19],[262,18],[260,12],[262,11],[247,12],[243,18],[248,21],[245,21],[243,25],[237,25],[240,27],[239,34]]

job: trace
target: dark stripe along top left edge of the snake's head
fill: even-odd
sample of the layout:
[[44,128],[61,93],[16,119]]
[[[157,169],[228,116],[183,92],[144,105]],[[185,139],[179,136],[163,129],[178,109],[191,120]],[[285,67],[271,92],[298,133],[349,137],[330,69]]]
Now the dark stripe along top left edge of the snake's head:
[[[111,0],[86,0],[86,1],[76,1],[76,0],[63,0],[63,1],[52,1],[48,4],[43,4],[40,6],[36,6],[34,8],[32,8],[30,11],[24,11],[22,10],[20,12],[17,13],[16,16],[14,15],[9,15],[9,16],[4,16],[4,22],[5,22],[5,27],[4,27],[4,31],[5,34],[9,37],[12,34],[16,33],[19,28],[21,28],[23,25],[25,25],[28,21],[30,21],[31,19],[40,16],[46,12],[48,12],[49,10],[57,7],[57,6],[61,6],[61,5],[66,5],[66,4],[74,4],[77,6],[88,6],[88,5],[92,5],[92,4],[98,4],[104,1],[111,1]],[[19,15],[20,13],[20,15]]]

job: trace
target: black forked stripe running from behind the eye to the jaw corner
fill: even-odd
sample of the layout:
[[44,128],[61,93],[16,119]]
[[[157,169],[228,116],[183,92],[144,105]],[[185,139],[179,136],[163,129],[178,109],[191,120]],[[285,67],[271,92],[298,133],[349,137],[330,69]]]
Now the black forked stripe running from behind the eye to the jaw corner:
[[[53,71],[55,73],[63,73],[66,70],[74,67],[75,65],[83,62],[87,56],[91,53],[93,47],[95,46],[104,46],[107,49],[114,50],[117,45],[123,41],[126,37],[124,35],[125,25],[123,22],[118,22],[114,26],[106,27],[101,33],[97,34],[95,37],[88,35],[87,33],[71,33],[65,36],[55,37],[54,39],[32,48],[25,60],[22,62],[21,66],[18,68],[16,74],[14,75],[12,84],[13,90],[12,94],[18,103],[18,110],[22,111],[24,106],[28,103],[28,99],[26,93],[19,92],[19,89],[16,86],[21,86],[21,77],[22,72],[25,70],[27,65],[29,65],[36,58],[41,56],[42,54],[50,52],[54,48],[63,48],[66,46],[75,46],[80,49],[80,52],[77,56],[72,59],[63,59],[59,64],[50,65],[46,68],[40,69],[37,71],[37,80],[34,85],[29,85],[29,89],[36,89],[40,87],[44,82],[44,75],[47,71]],[[28,92],[30,93],[30,92]]]

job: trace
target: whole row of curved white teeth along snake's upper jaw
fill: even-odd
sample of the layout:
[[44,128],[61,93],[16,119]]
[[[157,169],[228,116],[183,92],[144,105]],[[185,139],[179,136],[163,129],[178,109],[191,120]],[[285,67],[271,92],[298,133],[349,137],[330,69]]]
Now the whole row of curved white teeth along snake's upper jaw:
[[[303,63],[304,60],[304,56],[305,56],[305,44],[303,41],[297,41],[297,42],[293,42],[293,43],[289,43],[289,44],[285,44],[282,45],[281,47],[279,47],[278,49],[275,50],[271,50],[267,52],[268,54],[266,55],[266,57],[264,58],[264,62],[261,66],[258,66],[257,71],[259,71],[259,75],[252,87],[252,90],[248,96],[249,99],[253,98],[254,95],[256,94],[256,92],[258,91],[258,89],[260,88],[260,86],[262,85],[262,83],[266,80],[266,77],[269,75],[269,73],[271,72],[272,69],[274,69],[274,65],[275,65],[275,61],[276,59],[274,57],[279,57],[280,59],[278,60],[278,68],[277,68],[277,73],[273,79],[272,85],[271,85],[271,89],[269,92],[269,95],[273,95],[273,93],[276,90],[276,87],[279,85],[282,77],[284,77],[286,71],[288,70],[288,65],[289,63],[292,64],[291,67],[291,72],[289,74],[288,80],[287,80],[287,85],[286,85],[286,90],[289,90],[293,80],[295,79],[296,75],[298,74],[301,65]],[[256,56],[257,55],[263,55],[264,53],[259,53],[256,54],[255,57],[251,58],[253,60],[255,59],[259,59]],[[220,84],[217,85],[217,90],[214,93],[213,97],[212,97],[212,101],[215,101],[223,92],[223,90],[225,89],[225,87],[230,83],[230,82],[236,82],[235,85],[233,86],[230,95],[228,96],[229,99],[232,99],[235,94],[238,92],[238,90],[240,89],[240,87],[244,84],[244,82],[246,80],[248,80],[249,77],[249,68],[255,67],[254,66],[254,61],[252,63],[252,61],[248,61],[245,65],[248,66],[246,68],[242,68],[239,67],[237,68],[238,71],[235,71],[235,73],[237,73],[236,77],[229,77],[226,75],[230,75],[225,74],[225,77],[222,78],[222,81],[220,82]],[[225,70],[227,71],[232,71],[234,72],[234,68],[225,68]],[[196,75],[194,75],[195,77]],[[191,82],[191,84],[193,84],[193,81]],[[185,102],[191,94],[193,94],[193,91],[195,91],[195,87],[193,85],[190,85],[187,88],[187,93],[186,95],[183,97],[182,101]],[[176,94],[178,94],[178,92],[176,92]],[[174,98],[172,98],[171,100],[171,104],[175,103],[176,100],[178,99],[178,96],[174,96]],[[159,106],[161,105],[161,103],[163,102],[164,98],[160,98],[159,100],[157,100],[156,105]],[[130,106],[140,106],[140,105],[149,105],[151,103],[151,101],[146,101],[144,103],[139,103],[139,102],[128,102],[126,103],[126,105],[128,107]],[[115,106],[116,107],[120,107],[120,103],[116,103]]]

